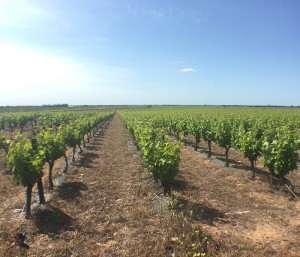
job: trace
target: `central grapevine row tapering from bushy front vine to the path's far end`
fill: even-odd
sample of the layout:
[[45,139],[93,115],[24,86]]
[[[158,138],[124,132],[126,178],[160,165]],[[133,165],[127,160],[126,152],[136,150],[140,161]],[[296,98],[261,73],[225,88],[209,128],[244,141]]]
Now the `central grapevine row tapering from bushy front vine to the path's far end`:
[[150,122],[133,116],[130,112],[121,112],[121,117],[136,142],[145,164],[145,171],[160,181],[166,189],[178,173],[180,161],[180,145],[164,135],[161,129],[156,129]]

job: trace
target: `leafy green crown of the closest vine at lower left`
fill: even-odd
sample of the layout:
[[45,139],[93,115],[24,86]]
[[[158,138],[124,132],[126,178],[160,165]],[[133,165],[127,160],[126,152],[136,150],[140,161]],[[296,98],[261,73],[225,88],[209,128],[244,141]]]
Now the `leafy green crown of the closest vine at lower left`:
[[44,152],[32,149],[31,140],[19,136],[9,147],[8,162],[12,165],[12,175],[15,183],[30,186],[43,175]]

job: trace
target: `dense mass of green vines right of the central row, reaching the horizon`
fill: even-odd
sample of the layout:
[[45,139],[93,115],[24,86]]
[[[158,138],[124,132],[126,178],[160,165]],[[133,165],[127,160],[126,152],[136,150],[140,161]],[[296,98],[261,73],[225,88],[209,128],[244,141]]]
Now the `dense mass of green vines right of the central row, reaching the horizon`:
[[[219,112],[218,112],[219,111]],[[283,178],[297,169],[300,149],[300,115],[297,113],[262,112],[239,109],[240,112],[213,111],[209,108],[157,108],[136,111],[155,128],[163,128],[178,139],[186,135],[195,138],[195,150],[200,140],[207,141],[208,157],[211,143],[225,150],[229,166],[229,150],[234,147],[248,158],[255,177],[255,162],[262,156],[272,175]],[[286,110],[285,110],[286,111]]]

